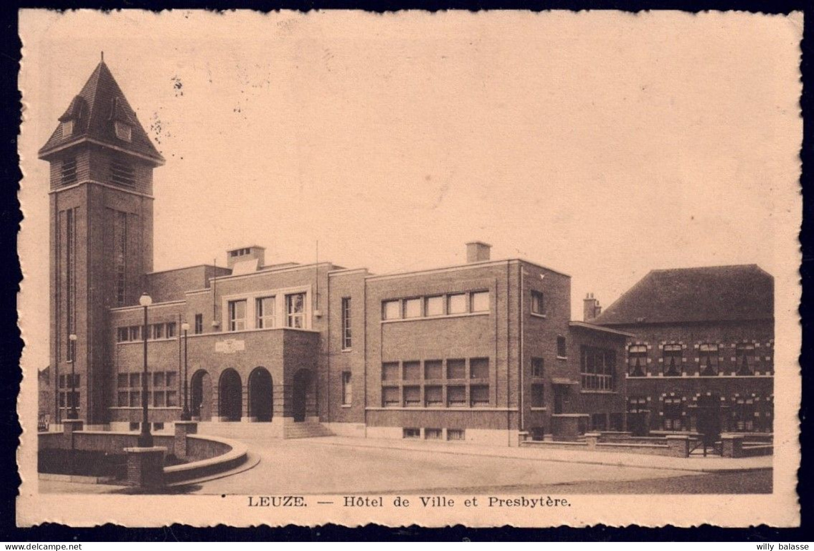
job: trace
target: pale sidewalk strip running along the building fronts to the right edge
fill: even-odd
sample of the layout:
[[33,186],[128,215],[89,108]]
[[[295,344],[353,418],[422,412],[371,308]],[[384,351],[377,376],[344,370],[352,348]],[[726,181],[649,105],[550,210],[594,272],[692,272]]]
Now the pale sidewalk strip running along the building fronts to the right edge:
[[321,444],[352,446],[354,448],[403,449],[410,452],[451,453],[453,455],[476,455],[506,457],[524,460],[560,463],[584,463],[643,467],[659,470],[685,470],[697,473],[740,472],[772,468],[772,456],[742,457],[664,457],[636,453],[588,452],[570,449],[509,448],[463,444],[459,442],[431,442],[427,440],[357,438],[352,436],[326,436],[318,439]]

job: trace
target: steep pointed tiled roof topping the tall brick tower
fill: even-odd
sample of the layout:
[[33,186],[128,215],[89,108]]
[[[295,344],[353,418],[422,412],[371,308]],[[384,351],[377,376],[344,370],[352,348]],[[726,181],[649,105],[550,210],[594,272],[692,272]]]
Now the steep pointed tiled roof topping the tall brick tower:
[[[65,135],[63,129],[67,125],[64,123],[71,121],[72,133]],[[136,113],[104,59],[96,66],[81,92],[72,99],[63,116],[59,117],[59,122],[46,145],[40,149],[40,159],[47,159],[65,146],[96,142],[151,160],[155,164],[164,164],[164,157],[147,137],[147,132],[138,122]],[[129,127],[129,141],[117,137],[116,122]]]

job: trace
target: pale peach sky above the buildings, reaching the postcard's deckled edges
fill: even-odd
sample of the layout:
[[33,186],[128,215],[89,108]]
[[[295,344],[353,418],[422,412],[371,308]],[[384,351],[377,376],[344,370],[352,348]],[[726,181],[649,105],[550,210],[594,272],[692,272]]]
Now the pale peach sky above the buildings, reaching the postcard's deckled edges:
[[[572,311],[650,269],[776,273],[798,216],[800,16],[24,11],[21,319],[48,363],[37,160],[104,50],[167,159],[155,269],[258,244],[374,273],[464,243],[571,275]],[[784,242],[785,243],[785,242]],[[796,251],[796,249],[794,249]]]

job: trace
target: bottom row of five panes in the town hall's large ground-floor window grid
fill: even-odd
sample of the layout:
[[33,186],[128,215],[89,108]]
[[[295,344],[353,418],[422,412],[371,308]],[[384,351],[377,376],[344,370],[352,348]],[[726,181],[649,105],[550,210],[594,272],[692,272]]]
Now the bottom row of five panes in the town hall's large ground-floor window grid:
[[383,408],[441,408],[444,404],[449,408],[488,407],[489,385],[382,387]]

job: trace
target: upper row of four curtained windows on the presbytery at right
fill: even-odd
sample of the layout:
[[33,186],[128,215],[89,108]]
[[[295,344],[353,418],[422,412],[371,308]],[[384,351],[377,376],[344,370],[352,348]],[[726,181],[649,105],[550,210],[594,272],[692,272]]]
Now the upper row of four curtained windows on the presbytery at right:
[[[702,377],[711,377],[719,373],[723,356],[720,345],[717,343],[701,343],[698,345],[699,374]],[[645,377],[647,373],[647,345],[631,344],[628,346],[628,374],[631,377]],[[738,375],[751,375],[755,373],[755,344],[735,344],[734,368]],[[661,373],[667,376],[681,376],[685,371],[682,367],[684,359],[684,345],[664,344],[662,347]]]

